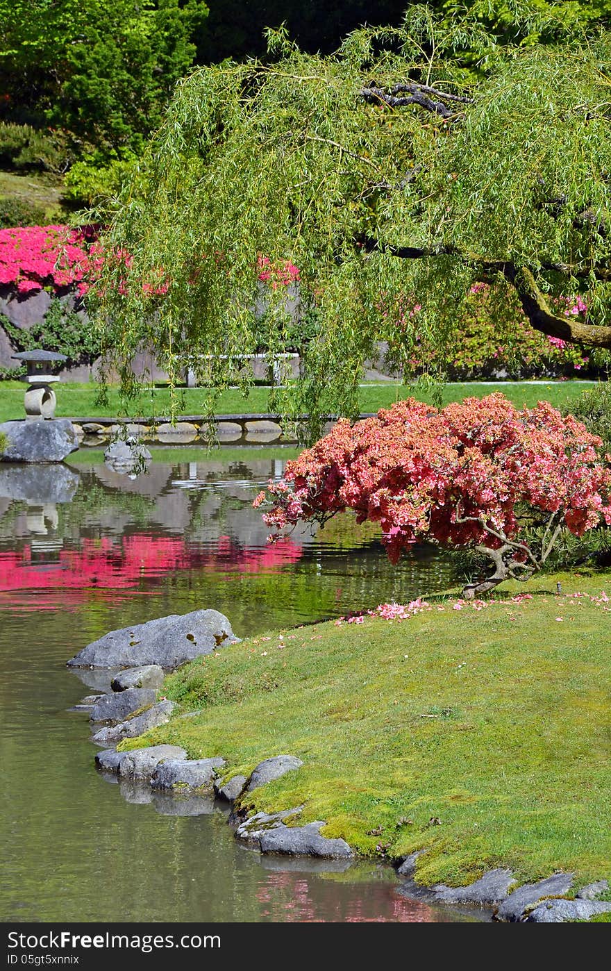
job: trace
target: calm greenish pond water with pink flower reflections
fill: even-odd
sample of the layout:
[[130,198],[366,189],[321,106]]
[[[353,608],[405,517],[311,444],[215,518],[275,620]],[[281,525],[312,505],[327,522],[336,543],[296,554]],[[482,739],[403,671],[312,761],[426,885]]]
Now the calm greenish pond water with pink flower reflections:
[[288,454],[157,450],[133,481],[86,450],[0,467],[0,920],[476,919],[405,900],[377,862],[261,857],[213,805],[130,803],[69,711],[89,689],[66,660],[114,627],[212,607],[244,636],[447,586],[443,559],[390,567],[348,518],[267,547],[252,501]]

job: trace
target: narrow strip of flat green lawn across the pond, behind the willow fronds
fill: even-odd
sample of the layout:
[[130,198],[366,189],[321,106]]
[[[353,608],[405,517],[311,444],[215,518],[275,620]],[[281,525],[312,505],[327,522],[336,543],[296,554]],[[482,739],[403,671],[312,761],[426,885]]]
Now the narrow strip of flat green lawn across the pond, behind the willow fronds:
[[[454,384],[445,385],[442,389],[443,403],[460,401],[469,395],[484,397],[492,391],[502,391],[514,404],[522,408],[532,407],[537,401],[550,401],[558,408],[562,408],[582,393],[594,386],[594,382],[587,381],[551,381],[494,383],[494,384]],[[24,385],[18,381],[4,381],[0,383],[0,421],[18,419],[23,415]],[[96,385],[62,384],[56,388],[57,417],[58,418],[115,418],[125,415],[124,407],[119,400],[119,391],[111,387],[109,404],[100,407],[95,403]],[[227,390],[221,395],[217,411],[220,415],[235,415],[244,413],[265,413],[268,411],[269,388],[256,386],[251,389],[248,398],[244,398],[239,390]],[[413,396],[421,401],[431,401],[431,396],[423,393],[419,388],[409,388],[405,385],[378,384],[362,385],[360,388],[360,411],[376,412],[379,408],[389,407],[395,401]],[[203,393],[198,388],[186,388],[182,391],[181,413],[183,415],[200,415],[202,412]],[[167,416],[170,410],[170,394],[165,387],[155,388],[153,393],[143,393],[142,397],[131,402],[128,415],[137,417]]]

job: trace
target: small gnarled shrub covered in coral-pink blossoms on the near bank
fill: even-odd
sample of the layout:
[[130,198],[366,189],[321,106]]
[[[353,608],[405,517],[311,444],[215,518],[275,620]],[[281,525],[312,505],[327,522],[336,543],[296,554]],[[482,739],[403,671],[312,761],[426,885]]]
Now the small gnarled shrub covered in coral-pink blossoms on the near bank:
[[[485,553],[494,567],[473,597],[503,580],[527,580],[565,527],[581,536],[611,524],[611,468],[601,440],[546,402],[517,411],[504,395],[467,398],[442,411],[413,398],[372,419],[342,419],[271,481],[263,516],[276,530],[336,513],[379,522],[391,562],[414,543]],[[607,456],[607,459],[609,456]],[[528,544],[525,518],[544,526]]]

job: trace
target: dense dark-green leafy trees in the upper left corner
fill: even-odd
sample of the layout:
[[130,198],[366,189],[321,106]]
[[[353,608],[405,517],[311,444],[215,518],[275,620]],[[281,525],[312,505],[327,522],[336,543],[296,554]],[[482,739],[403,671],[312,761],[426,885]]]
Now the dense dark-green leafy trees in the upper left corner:
[[58,127],[82,149],[140,151],[206,14],[201,0],[1,0],[5,117]]

